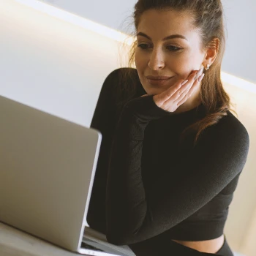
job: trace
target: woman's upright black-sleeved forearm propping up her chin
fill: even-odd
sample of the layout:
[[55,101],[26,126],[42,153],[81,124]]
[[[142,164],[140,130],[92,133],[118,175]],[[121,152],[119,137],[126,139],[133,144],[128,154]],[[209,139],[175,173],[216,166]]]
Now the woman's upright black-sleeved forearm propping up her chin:
[[146,215],[141,156],[147,124],[128,110],[121,114],[108,170],[107,233],[134,234]]

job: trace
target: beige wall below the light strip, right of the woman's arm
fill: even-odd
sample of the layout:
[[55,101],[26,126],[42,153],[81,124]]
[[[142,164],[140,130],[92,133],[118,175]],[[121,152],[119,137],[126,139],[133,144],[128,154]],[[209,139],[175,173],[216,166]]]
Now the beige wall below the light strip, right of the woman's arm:
[[[238,113],[238,119],[246,127],[250,138],[248,159],[240,176],[225,226],[225,233],[230,245],[245,253],[247,252],[244,246],[245,238],[248,236],[252,219],[256,217],[254,214],[256,208],[256,94],[229,84],[225,84],[225,89],[236,104],[235,110]],[[249,238],[247,237],[247,239]],[[255,254],[248,255],[256,255],[256,250]]]

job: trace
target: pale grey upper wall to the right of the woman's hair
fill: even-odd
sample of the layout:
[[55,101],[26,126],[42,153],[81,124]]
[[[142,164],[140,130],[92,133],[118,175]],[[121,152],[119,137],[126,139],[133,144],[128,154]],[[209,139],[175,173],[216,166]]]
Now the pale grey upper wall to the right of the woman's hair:
[[227,47],[222,69],[256,83],[256,1],[222,0],[222,3],[227,22]]

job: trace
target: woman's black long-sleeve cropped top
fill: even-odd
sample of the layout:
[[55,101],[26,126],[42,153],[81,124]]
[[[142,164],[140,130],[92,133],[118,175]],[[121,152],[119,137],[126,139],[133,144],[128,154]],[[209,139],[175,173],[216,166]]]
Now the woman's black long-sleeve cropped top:
[[230,111],[181,147],[179,135],[206,115],[203,104],[184,113],[157,107],[138,72],[137,91],[117,111],[121,69],[108,75],[91,127],[102,132],[87,221],[112,244],[162,236],[203,241],[222,236],[228,208],[246,163],[249,135]]

